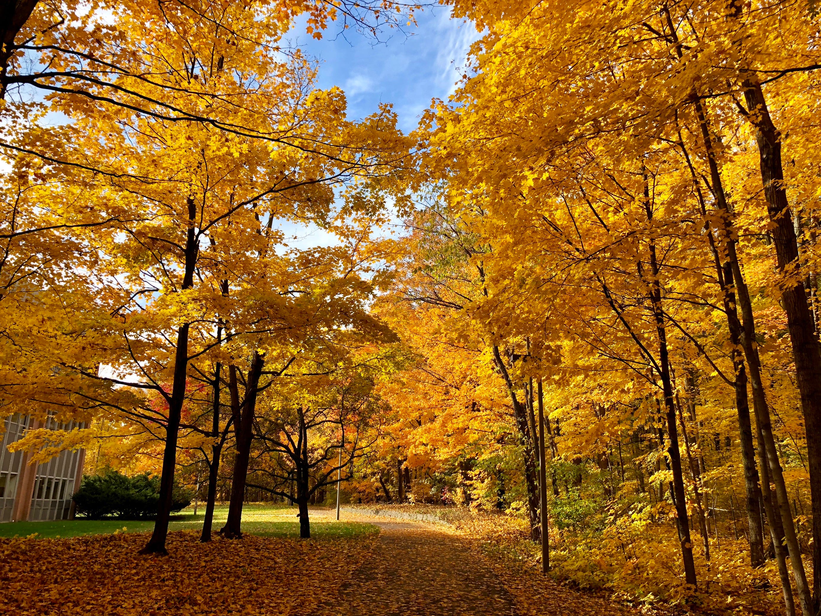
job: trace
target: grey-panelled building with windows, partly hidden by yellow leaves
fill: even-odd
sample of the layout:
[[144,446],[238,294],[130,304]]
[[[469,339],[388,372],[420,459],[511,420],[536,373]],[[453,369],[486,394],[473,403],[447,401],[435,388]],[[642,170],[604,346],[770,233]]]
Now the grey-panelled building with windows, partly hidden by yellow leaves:
[[85,449],[64,451],[48,462],[30,464],[31,452],[11,453],[8,446],[25,430],[71,430],[78,424],[45,423],[20,413],[7,417],[0,439],[0,522],[66,520],[74,517],[71,496],[80,487]]

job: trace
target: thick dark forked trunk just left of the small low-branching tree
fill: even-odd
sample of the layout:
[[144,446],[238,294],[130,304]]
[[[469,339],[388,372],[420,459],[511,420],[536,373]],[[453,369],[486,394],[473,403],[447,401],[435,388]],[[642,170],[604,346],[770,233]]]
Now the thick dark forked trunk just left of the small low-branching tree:
[[[242,503],[245,500],[245,479],[248,476],[248,462],[250,460],[251,441],[254,437],[254,412],[256,398],[259,393],[259,377],[265,363],[264,355],[254,352],[248,370],[248,381],[245,385],[245,400],[242,404],[240,424],[236,427],[236,458],[234,459],[234,475],[231,483],[231,502],[228,504],[228,519],[220,533],[227,539],[240,539],[242,536]],[[236,384],[236,368],[232,380]]]

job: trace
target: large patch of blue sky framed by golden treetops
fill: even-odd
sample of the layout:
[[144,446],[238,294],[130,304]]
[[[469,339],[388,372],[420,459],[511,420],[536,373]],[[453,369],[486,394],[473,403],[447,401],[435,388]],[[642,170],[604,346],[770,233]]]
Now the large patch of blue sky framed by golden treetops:
[[430,99],[452,94],[468,48],[479,38],[473,24],[451,19],[448,7],[426,9],[417,22],[404,34],[385,30],[382,43],[351,30],[342,36],[334,23],[320,40],[305,34],[304,22],[287,38],[319,59],[321,88],[345,90],[351,119],[373,113],[378,103],[393,103],[399,127],[412,131]]

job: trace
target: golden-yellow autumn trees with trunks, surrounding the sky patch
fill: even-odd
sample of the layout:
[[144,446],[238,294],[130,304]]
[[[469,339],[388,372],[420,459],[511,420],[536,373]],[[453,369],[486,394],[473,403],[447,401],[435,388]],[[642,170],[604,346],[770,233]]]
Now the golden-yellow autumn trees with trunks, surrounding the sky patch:
[[13,446],[159,476],[149,553],[175,476],[205,542],[218,493],[223,536],[255,490],[307,537],[336,484],[503,511],[630,600],[818,614],[817,7],[444,3],[481,36],[405,134],[283,36],[421,4],[7,2],[0,408],[83,422]]

